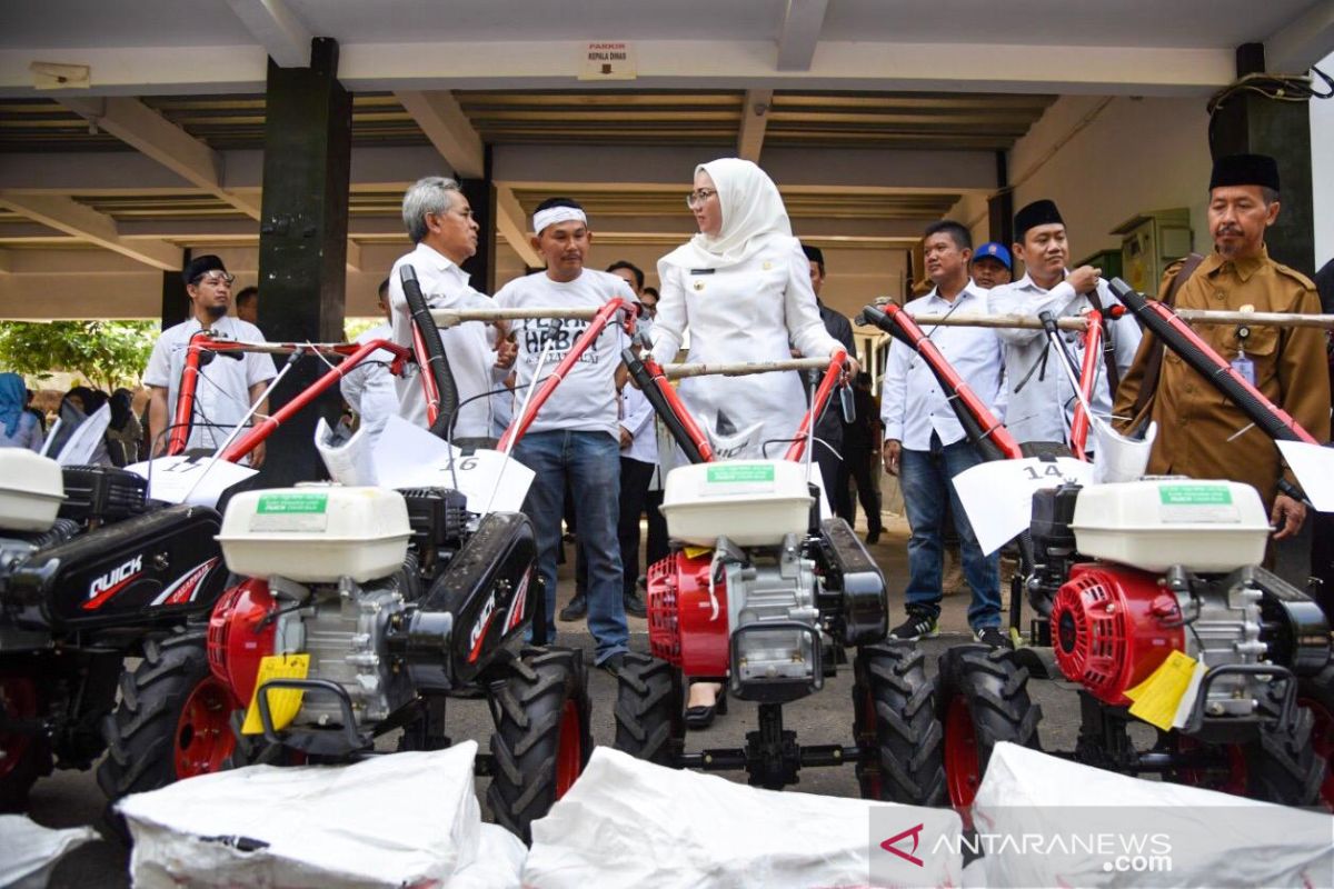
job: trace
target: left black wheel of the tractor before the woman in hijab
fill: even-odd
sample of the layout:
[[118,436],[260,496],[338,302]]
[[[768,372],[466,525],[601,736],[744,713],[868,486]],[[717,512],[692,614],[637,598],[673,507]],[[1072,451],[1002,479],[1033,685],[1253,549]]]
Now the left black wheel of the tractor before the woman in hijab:
[[618,750],[675,766],[684,749],[680,673],[667,661],[626,654],[616,673]]

